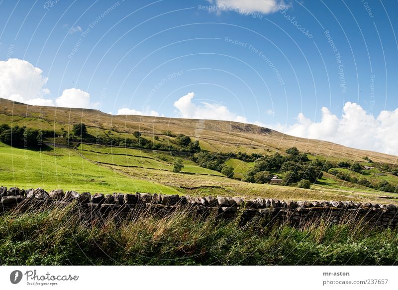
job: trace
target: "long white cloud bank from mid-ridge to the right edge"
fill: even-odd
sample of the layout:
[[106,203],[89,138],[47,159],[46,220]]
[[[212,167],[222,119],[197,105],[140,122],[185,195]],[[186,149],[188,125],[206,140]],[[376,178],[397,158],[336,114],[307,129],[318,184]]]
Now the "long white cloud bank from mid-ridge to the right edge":
[[[226,106],[216,103],[193,103],[195,93],[188,93],[174,103],[177,115],[181,118],[226,120],[252,123],[279,132],[309,139],[329,141],[359,149],[398,155],[398,109],[382,111],[378,116],[368,114],[360,105],[347,102],[341,117],[329,109],[321,109],[322,118],[313,122],[300,113],[293,125],[263,124],[248,121],[246,117],[231,112]],[[273,114],[268,110],[267,115]]]

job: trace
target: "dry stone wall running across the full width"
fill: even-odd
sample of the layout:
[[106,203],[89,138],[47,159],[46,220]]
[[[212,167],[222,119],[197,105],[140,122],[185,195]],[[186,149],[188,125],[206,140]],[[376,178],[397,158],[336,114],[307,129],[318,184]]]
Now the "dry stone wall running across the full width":
[[94,216],[128,217],[144,210],[154,214],[168,214],[176,210],[189,210],[194,215],[215,214],[220,218],[240,215],[244,220],[267,216],[275,223],[300,226],[308,223],[365,221],[374,226],[397,227],[397,206],[355,201],[286,201],[276,199],[242,199],[239,197],[191,197],[151,193],[113,193],[92,195],[62,189],[45,191],[0,187],[0,213],[18,208],[34,208],[43,205],[66,206],[76,202]]

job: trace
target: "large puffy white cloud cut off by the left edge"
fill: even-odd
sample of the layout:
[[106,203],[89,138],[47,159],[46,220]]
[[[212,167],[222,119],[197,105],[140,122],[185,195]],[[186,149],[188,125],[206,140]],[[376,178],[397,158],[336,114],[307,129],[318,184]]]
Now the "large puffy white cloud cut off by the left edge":
[[0,61],[0,98],[28,103],[49,93],[43,71],[26,60]]

